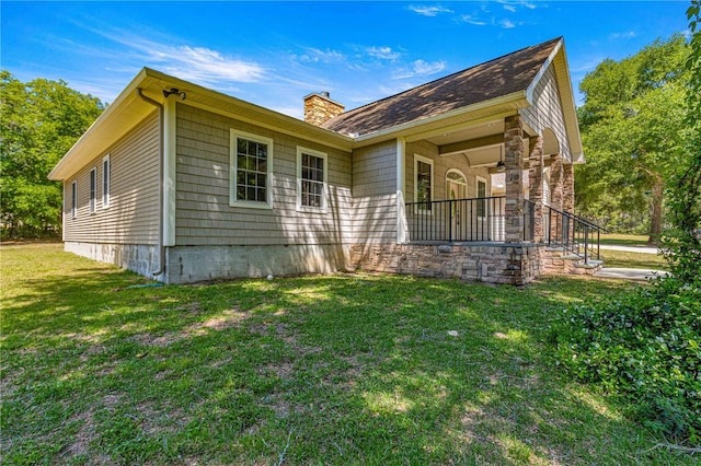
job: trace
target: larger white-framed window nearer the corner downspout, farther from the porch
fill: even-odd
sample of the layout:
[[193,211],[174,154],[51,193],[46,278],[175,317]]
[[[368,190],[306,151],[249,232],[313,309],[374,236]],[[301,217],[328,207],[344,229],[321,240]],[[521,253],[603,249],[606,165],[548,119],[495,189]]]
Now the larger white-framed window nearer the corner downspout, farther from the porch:
[[273,140],[231,130],[230,205],[273,208]]

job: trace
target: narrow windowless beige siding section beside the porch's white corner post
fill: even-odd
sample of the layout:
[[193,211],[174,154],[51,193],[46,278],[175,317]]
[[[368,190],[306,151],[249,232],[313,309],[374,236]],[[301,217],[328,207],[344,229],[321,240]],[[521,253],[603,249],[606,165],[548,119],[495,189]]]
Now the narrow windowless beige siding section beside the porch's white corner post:
[[397,243],[397,141],[353,154],[356,243]]

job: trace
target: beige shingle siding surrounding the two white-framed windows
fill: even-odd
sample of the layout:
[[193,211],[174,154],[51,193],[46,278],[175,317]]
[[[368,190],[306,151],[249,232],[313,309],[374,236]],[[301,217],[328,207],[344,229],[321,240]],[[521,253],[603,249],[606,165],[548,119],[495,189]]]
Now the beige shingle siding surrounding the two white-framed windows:
[[[273,209],[229,205],[230,130],[273,139]],[[189,105],[176,109],[175,244],[302,245],[352,240],[350,153]],[[327,211],[297,210],[297,147],[327,154]]]

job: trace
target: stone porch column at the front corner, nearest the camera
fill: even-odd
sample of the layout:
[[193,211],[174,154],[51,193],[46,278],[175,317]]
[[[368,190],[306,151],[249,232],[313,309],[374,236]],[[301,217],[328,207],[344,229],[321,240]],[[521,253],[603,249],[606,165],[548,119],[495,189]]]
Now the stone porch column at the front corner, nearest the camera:
[[506,165],[505,241],[524,238],[524,124],[519,115],[504,119],[504,164]]

